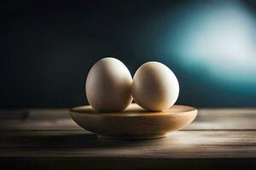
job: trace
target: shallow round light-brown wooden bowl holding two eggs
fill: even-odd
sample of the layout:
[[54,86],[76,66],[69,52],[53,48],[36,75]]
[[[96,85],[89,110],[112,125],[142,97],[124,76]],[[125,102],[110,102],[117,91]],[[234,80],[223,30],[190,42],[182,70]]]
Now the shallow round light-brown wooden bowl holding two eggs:
[[94,111],[90,105],[70,109],[70,116],[80,127],[102,137],[114,139],[157,139],[166,133],[189,125],[197,110],[185,105],[173,105],[166,111],[145,111],[131,104],[122,112]]

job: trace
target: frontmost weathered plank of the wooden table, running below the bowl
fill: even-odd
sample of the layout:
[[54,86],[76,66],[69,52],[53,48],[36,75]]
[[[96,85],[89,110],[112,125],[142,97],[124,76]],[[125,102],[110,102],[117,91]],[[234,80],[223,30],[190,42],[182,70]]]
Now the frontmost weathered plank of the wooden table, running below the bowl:
[[[84,156],[137,158],[255,158],[256,133],[177,131],[166,139],[97,139],[87,132],[1,133],[1,156]],[[40,154],[38,154],[40,153]]]

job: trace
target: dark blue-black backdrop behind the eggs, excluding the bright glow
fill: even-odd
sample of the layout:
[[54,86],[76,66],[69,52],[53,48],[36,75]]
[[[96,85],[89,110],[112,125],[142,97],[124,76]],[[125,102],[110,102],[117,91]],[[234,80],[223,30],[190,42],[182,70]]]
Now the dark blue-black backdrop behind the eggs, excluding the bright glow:
[[[195,71],[184,68],[179,56],[163,50],[168,26],[179,22],[176,11],[186,8],[189,14],[189,10],[195,7],[204,8],[203,2],[2,3],[1,107],[84,105],[86,74],[97,59],[105,56],[122,60],[132,75],[149,60],[168,65],[180,82],[178,104],[196,107],[256,106],[256,92],[252,84],[230,88],[230,82],[219,83],[209,78],[210,75],[200,65]],[[221,2],[210,1],[213,6]],[[253,1],[243,3],[255,9]],[[256,77],[255,72],[252,74]]]

